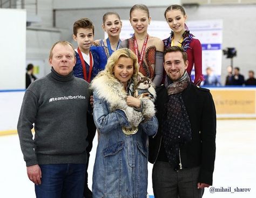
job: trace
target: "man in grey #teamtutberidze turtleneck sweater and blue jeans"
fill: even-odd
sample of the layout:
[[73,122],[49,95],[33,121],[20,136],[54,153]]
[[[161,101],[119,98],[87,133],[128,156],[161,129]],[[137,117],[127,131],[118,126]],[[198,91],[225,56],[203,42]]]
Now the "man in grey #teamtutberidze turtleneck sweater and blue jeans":
[[[75,51],[53,44],[51,73],[26,90],[18,135],[37,197],[83,197],[89,84],[73,76]],[[35,125],[35,138],[31,129]]]

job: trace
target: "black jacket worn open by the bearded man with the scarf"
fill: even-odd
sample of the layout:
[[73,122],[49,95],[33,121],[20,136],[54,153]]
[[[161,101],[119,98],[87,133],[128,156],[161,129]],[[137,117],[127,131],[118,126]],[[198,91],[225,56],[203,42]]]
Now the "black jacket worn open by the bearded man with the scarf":
[[[168,100],[164,85],[157,87],[157,118],[158,132],[149,141],[149,161],[157,160],[161,145],[161,125],[166,111]],[[212,185],[212,175],[215,161],[216,112],[212,95],[206,88],[188,85],[182,92],[182,98],[191,123],[192,140],[180,148],[183,167],[200,166],[199,181]]]

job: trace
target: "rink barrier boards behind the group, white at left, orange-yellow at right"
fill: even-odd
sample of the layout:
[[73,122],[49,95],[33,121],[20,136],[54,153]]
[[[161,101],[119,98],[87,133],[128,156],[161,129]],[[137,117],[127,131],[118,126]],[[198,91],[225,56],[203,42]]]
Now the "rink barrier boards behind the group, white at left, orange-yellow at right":
[[[205,88],[212,94],[217,119],[256,119],[256,86]],[[0,90],[0,120],[5,120],[0,125],[0,136],[17,134],[15,128],[24,92],[25,90]]]

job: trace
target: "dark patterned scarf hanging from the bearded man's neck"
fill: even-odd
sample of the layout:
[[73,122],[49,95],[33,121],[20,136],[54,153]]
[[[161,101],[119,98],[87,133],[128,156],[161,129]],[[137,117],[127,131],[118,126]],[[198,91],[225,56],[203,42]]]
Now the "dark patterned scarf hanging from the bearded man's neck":
[[190,84],[190,77],[185,71],[184,75],[175,82],[169,77],[166,79],[168,101],[166,103],[165,118],[163,121],[164,148],[169,163],[175,168],[182,168],[180,161],[180,148],[191,141],[191,124],[181,92]]

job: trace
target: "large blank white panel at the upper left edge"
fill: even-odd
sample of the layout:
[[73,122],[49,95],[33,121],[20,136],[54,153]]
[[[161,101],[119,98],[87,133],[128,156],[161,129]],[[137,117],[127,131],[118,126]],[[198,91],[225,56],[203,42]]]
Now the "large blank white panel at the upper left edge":
[[0,90],[25,88],[26,10],[0,9],[0,24]]

